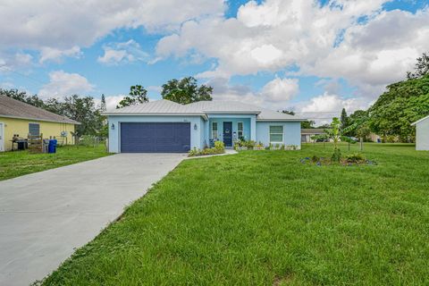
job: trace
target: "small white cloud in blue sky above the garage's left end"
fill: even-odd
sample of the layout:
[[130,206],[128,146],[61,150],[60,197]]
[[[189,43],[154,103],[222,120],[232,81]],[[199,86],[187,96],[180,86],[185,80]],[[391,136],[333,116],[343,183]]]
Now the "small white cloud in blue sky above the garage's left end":
[[111,43],[103,47],[105,55],[99,56],[98,63],[119,64],[135,61],[147,61],[149,55],[141,49],[139,43],[130,39],[128,42]]

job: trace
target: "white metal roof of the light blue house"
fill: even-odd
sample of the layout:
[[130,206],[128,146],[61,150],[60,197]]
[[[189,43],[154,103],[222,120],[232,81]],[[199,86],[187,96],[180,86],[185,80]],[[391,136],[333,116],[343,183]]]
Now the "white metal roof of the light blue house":
[[201,115],[206,114],[257,114],[257,121],[305,121],[290,114],[282,114],[256,105],[237,101],[198,101],[181,105],[170,100],[156,100],[140,105],[130,105],[107,111],[105,115]]

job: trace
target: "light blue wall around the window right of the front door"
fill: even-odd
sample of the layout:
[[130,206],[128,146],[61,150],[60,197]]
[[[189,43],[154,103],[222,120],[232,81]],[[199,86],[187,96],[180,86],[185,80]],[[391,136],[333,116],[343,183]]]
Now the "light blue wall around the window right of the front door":
[[283,144],[301,147],[301,122],[257,122],[257,142],[270,144],[270,125],[283,126]]

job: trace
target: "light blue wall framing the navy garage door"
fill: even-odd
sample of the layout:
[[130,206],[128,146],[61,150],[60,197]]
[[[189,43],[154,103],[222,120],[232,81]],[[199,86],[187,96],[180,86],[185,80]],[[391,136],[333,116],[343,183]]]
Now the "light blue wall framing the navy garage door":
[[[201,116],[162,116],[162,115],[110,115],[109,122],[109,152],[121,152],[121,122],[190,122],[190,147],[204,147],[204,119]],[[114,129],[112,125],[114,124]],[[195,129],[195,126],[197,129]]]

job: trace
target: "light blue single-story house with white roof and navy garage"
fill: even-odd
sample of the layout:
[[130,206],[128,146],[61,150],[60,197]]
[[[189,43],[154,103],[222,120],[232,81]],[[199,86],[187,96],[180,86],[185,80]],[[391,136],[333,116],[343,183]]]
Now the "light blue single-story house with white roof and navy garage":
[[301,119],[255,105],[200,101],[180,105],[158,100],[105,113],[112,153],[188,152],[221,140],[233,147],[236,139],[265,146],[300,148]]

